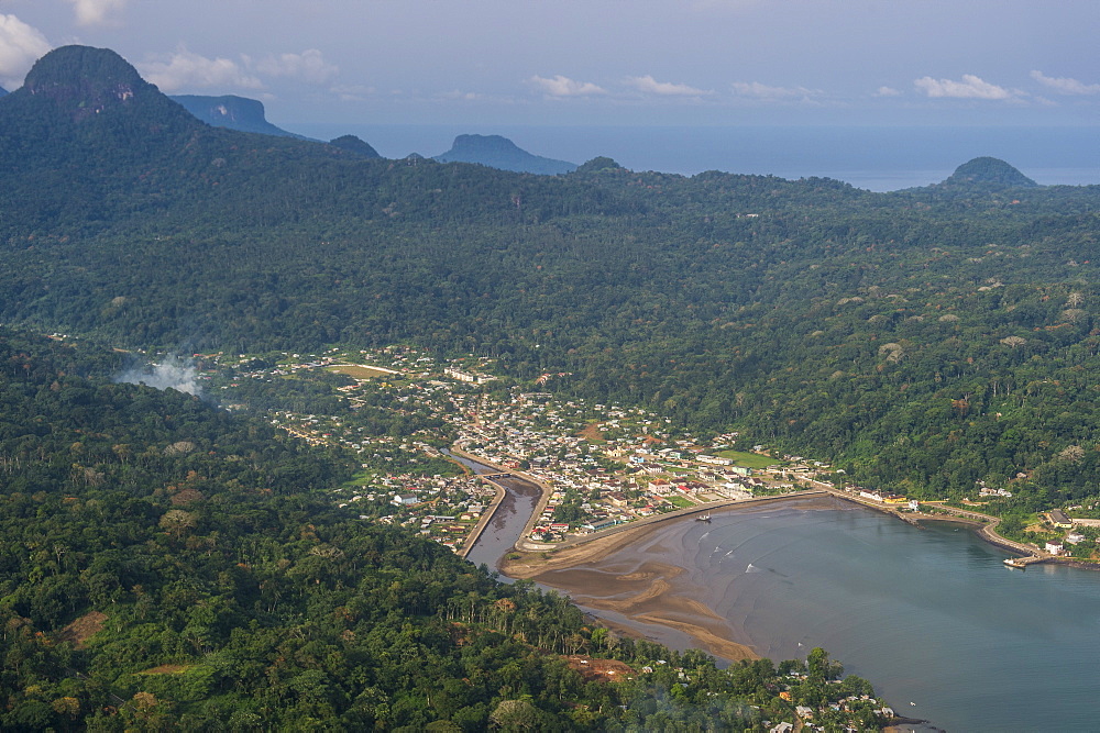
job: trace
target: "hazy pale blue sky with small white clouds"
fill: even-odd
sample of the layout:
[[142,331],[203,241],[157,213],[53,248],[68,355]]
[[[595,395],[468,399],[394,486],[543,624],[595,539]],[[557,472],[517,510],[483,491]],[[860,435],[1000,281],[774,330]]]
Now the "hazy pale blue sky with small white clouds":
[[287,122],[1086,124],[1093,0],[0,0],[0,85],[80,43]]

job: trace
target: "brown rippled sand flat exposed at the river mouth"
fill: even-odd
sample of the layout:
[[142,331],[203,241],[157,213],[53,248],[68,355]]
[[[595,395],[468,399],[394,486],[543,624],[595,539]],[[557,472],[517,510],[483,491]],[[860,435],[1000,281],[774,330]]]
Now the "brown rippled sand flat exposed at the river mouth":
[[[777,501],[787,501],[777,499]],[[833,499],[796,499],[801,509],[833,509]],[[752,511],[755,507],[721,510]],[[638,526],[543,555],[502,560],[501,571],[557,588],[586,608],[612,611],[632,622],[658,624],[688,634],[694,644],[729,660],[752,659],[749,646],[735,641],[735,628],[704,602],[704,588],[691,578],[691,558],[674,547],[676,535],[694,520]],[[638,634],[636,629],[608,623]]]

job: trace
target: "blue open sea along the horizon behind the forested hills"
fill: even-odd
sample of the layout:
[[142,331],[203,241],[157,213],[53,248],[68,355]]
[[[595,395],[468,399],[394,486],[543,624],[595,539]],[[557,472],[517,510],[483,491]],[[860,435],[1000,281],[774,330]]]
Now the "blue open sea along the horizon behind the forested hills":
[[504,135],[549,158],[615,158],[631,170],[821,176],[890,191],[947,178],[978,156],[1001,158],[1043,185],[1100,184],[1100,126],[541,126],[282,124],[319,140],[354,134],[383,156],[447,152],[465,133]]

